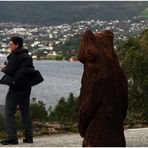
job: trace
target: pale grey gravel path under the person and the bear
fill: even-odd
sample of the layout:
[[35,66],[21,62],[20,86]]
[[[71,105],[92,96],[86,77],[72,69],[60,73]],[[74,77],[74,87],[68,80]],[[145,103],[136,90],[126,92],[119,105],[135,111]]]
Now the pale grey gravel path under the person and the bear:
[[[127,147],[148,147],[148,128],[125,130]],[[12,147],[81,147],[82,138],[79,134],[58,134],[35,137],[33,144],[24,144],[19,139],[19,145]],[[10,145],[9,145],[10,146]],[[0,147],[3,147],[0,145]]]

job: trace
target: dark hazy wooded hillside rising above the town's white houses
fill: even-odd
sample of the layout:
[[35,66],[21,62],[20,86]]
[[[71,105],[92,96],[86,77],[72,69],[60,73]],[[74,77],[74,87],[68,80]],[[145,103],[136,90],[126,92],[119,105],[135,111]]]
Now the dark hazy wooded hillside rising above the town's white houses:
[[57,25],[91,19],[130,19],[148,1],[0,1],[0,21]]

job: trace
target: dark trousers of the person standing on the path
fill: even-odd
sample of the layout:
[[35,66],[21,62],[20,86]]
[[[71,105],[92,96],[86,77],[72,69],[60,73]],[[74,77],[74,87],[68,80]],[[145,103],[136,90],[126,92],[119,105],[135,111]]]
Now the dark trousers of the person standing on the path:
[[15,113],[19,106],[25,137],[32,137],[32,122],[30,118],[30,89],[15,90],[9,88],[5,102],[5,130],[8,139],[17,139]]

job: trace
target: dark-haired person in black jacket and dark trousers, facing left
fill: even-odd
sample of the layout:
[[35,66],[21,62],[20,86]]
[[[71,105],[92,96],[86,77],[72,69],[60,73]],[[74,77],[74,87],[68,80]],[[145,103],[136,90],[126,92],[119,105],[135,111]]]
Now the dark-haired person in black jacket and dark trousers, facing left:
[[[14,36],[10,39],[9,48],[11,53],[7,57],[8,63],[2,68],[6,75],[14,76],[16,71],[21,68],[34,68],[32,57],[28,50],[23,49],[23,39]],[[18,144],[17,132],[15,127],[15,113],[17,107],[22,115],[22,123],[25,131],[24,143],[33,143],[32,123],[30,118],[30,93],[31,86],[11,85],[6,96],[5,102],[5,129],[8,134],[7,139],[2,140],[1,144]]]

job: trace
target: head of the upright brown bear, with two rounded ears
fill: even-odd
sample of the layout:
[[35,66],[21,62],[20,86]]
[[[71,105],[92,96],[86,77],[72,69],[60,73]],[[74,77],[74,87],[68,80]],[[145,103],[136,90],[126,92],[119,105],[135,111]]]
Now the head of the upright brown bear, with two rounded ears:
[[87,30],[80,40],[78,60],[82,63],[94,62],[97,60],[113,60],[113,32],[105,30],[93,33]]

